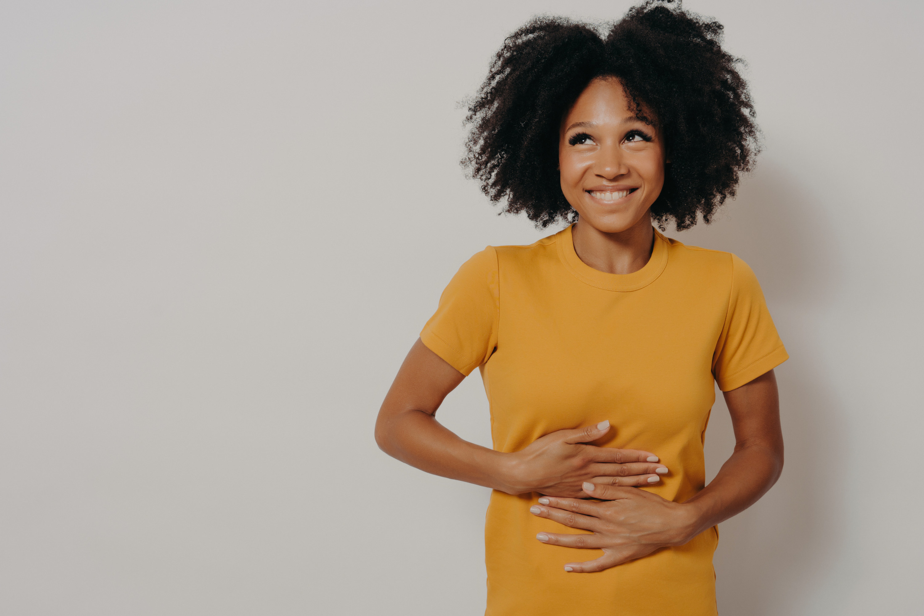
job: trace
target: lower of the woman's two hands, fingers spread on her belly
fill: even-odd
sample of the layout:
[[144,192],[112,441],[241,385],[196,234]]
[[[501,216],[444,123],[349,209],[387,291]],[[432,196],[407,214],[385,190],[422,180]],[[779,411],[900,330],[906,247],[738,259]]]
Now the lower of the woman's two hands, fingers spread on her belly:
[[596,560],[568,562],[565,571],[587,574],[609,569],[659,548],[683,545],[700,531],[694,505],[668,501],[638,488],[585,483],[583,489],[606,502],[543,496],[541,504],[529,508],[540,517],[593,533],[540,533],[536,538],[541,542],[603,550]]

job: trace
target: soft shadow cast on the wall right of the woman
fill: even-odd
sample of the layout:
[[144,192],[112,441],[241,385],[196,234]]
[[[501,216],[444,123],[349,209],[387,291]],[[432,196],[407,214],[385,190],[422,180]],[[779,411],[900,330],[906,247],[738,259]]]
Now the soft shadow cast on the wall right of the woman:
[[[825,234],[824,223],[821,211],[812,207],[811,191],[784,169],[765,163],[742,182],[736,201],[726,203],[711,225],[666,234],[747,261],[790,356],[776,368],[786,446],[783,477],[748,511],[720,525],[714,563],[723,614],[803,612],[814,602],[813,588],[832,574],[844,540],[837,478],[837,469],[844,467],[839,445],[844,434],[836,393],[825,385],[817,333],[834,302],[841,247]],[[716,396],[706,440],[708,479],[735,445],[728,411],[721,394]]]

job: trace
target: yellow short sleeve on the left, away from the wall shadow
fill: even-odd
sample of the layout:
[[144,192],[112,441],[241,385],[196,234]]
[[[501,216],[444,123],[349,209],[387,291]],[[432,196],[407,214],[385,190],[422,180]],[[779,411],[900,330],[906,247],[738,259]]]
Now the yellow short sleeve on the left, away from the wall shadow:
[[420,340],[468,376],[497,344],[499,306],[497,252],[489,246],[463,263],[449,281]]

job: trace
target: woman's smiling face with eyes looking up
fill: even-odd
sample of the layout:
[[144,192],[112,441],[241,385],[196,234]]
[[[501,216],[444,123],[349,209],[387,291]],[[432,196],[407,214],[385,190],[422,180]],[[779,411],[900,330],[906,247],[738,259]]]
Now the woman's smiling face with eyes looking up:
[[558,168],[565,199],[580,220],[604,233],[650,224],[664,185],[658,131],[636,119],[617,79],[594,79],[565,115]]

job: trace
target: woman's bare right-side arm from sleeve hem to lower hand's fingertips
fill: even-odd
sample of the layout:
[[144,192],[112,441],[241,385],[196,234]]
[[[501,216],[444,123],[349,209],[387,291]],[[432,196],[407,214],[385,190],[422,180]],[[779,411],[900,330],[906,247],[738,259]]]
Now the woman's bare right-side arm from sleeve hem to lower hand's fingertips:
[[735,453],[699,494],[679,503],[639,489],[585,486],[607,502],[542,498],[530,511],[593,535],[540,533],[544,543],[598,548],[603,556],[569,562],[565,571],[602,571],[666,546],[683,545],[712,525],[754,504],[783,471],[783,434],[773,370],[725,392],[735,428]]

